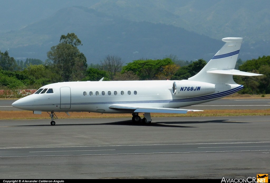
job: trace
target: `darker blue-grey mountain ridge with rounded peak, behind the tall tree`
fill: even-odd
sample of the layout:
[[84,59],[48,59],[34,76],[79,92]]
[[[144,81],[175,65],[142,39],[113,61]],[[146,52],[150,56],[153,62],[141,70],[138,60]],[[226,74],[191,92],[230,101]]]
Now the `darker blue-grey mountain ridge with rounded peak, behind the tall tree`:
[[142,57],[160,59],[170,54],[183,60],[210,60],[223,45],[222,41],[180,27],[134,22],[94,9],[72,7],[21,30],[2,34],[1,50],[9,49],[9,55],[15,58],[44,61],[60,36],[72,32],[82,41],[79,49],[88,63],[97,63],[108,54],[119,55],[126,62]]

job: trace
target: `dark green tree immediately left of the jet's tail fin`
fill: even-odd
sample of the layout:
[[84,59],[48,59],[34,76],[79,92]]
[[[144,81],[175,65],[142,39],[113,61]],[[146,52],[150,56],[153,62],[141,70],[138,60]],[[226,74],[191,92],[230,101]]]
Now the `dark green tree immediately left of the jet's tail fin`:
[[206,61],[199,59],[188,66],[181,67],[174,76],[171,77],[171,80],[187,80],[188,78],[196,75],[203,67],[206,65]]

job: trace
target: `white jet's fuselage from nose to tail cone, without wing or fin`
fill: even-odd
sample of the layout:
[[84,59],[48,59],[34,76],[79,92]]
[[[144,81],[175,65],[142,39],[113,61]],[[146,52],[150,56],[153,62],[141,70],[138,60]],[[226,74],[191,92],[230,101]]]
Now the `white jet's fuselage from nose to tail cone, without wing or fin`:
[[[173,88],[173,84],[175,85]],[[132,113],[110,109],[111,105],[180,108],[223,98],[240,89],[238,84],[198,81],[77,81],[43,86],[39,94],[26,96],[12,105],[44,112]],[[47,93],[53,89],[53,93]]]

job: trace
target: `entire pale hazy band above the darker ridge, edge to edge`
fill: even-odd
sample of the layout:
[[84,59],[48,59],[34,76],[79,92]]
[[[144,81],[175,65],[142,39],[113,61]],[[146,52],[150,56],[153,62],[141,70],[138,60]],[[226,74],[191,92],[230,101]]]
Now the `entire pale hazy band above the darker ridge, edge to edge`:
[[270,41],[269,0],[9,0],[0,1],[0,33],[18,30],[62,8],[83,6],[131,21],[182,27],[220,40]]

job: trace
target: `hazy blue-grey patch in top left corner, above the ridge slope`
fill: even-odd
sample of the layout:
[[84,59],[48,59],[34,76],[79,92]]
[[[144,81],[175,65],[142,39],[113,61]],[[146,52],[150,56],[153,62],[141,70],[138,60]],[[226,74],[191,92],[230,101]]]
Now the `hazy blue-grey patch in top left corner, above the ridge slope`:
[[0,32],[16,30],[70,6],[89,7],[100,0],[1,0]]

